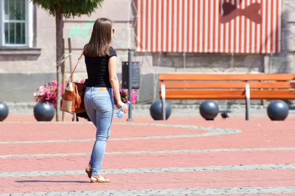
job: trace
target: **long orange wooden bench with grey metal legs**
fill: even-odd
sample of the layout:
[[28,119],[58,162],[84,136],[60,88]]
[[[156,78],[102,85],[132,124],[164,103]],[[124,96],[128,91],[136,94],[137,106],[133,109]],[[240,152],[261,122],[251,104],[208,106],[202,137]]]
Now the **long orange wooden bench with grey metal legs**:
[[[295,99],[295,74],[159,74],[162,113],[165,99]],[[164,115],[165,114],[165,115]]]

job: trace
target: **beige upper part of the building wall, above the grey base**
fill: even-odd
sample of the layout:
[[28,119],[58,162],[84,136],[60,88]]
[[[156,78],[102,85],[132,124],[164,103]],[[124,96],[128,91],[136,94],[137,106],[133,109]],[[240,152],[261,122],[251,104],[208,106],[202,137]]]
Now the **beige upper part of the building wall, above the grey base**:
[[[133,23],[136,13],[131,0],[105,0],[90,17],[65,19],[63,37],[66,53],[67,38],[70,37],[73,59],[76,62],[83,46],[89,41],[93,21],[107,17],[114,21],[116,29],[113,46],[118,51],[118,72],[121,61],[127,60],[127,49],[135,47]],[[134,18],[133,18],[134,17]],[[295,2],[283,0],[282,51],[276,56],[230,55],[230,54],[182,54],[134,53],[134,60],[142,62],[142,73],[161,72],[294,72],[295,50]],[[42,8],[36,9],[36,48],[40,54],[5,54],[0,52],[0,72],[55,72],[56,37],[55,18]],[[69,62],[66,61],[66,71]],[[84,60],[77,72],[85,72]]]

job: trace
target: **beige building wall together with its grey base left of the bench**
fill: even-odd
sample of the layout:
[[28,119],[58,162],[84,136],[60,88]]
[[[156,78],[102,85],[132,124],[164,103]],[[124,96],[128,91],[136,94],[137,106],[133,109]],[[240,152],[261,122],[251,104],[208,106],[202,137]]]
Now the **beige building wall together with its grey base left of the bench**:
[[[65,19],[63,38],[66,54],[67,38],[71,38],[73,62],[77,62],[84,45],[88,43],[93,21],[107,17],[114,21],[113,47],[118,53],[118,76],[121,62],[128,60],[128,48],[134,49],[134,23],[136,10],[132,0],[104,0],[101,8],[90,17]],[[283,0],[283,30],[281,54],[159,54],[133,53],[133,61],[141,62],[141,89],[139,102],[151,102],[158,96],[157,73],[201,72],[201,73],[295,73],[295,1]],[[50,79],[56,72],[55,18],[42,8],[35,8],[35,47],[26,49],[0,47],[0,99],[18,101],[16,92],[22,92],[21,101],[33,101],[32,93]],[[65,62],[69,72],[69,61]],[[9,73],[9,74],[8,74]],[[67,73],[68,75],[68,73]],[[78,66],[74,79],[86,78],[84,58]],[[29,78],[29,79],[28,79]],[[152,80],[152,82],[151,82]],[[17,88],[16,88],[17,87]]]

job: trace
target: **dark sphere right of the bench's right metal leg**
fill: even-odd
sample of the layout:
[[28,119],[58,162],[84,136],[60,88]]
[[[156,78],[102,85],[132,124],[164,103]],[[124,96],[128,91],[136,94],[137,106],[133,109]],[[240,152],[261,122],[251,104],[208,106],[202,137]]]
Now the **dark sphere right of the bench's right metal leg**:
[[283,100],[274,100],[267,106],[267,116],[271,121],[284,121],[289,114],[289,106]]

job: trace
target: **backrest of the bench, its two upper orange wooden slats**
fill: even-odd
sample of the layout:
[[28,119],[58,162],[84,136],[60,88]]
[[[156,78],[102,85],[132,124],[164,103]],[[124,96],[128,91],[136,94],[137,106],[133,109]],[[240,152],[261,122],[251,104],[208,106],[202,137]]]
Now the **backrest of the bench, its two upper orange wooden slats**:
[[[294,81],[291,81],[294,80]],[[290,89],[295,88],[295,74],[159,74],[159,86],[166,89]]]

